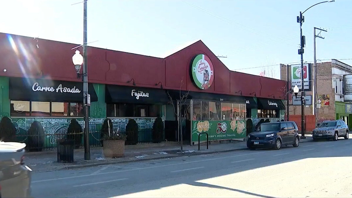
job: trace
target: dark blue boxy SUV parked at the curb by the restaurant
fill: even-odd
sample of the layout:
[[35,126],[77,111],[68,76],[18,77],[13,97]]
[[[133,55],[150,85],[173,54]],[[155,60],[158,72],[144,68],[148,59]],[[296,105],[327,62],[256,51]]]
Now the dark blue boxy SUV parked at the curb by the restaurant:
[[247,147],[280,149],[281,146],[293,145],[298,147],[300,138],[298,128],[293,121],[270,122],[260,124],[260,131],[248,135]]

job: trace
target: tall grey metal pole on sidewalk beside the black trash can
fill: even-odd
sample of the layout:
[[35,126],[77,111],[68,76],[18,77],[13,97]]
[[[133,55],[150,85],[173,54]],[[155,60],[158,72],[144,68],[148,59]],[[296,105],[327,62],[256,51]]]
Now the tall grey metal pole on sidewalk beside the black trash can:
[[88,56],[87,56],[87,0],[83,1],[83,111],[84,111],[84,160],[90,160],[88,105]]

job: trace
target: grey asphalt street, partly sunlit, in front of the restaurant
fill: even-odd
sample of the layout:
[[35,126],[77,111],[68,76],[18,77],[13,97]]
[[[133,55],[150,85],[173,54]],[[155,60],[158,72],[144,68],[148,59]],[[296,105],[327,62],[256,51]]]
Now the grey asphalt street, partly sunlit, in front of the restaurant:
[[352,197],[352,140],[34,173],[33,197]]

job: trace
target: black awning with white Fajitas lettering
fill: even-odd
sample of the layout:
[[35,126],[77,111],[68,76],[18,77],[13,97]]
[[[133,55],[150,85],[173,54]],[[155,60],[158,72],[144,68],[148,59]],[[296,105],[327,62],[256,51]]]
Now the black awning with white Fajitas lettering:
[[167,104],[165,89],[106,85],[106,103]]

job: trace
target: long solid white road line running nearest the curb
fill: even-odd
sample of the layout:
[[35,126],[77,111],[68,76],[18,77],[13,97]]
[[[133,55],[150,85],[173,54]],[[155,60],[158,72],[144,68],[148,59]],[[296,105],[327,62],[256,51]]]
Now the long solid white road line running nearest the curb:
[[[166,165],[160,165],[160,166],[151,166],[151,167],[144,167],[144,168],[140,168],[140,169],[129,169],[129,170],[122,170],[122,171],[113,171],[113,172],[106,172],[106,173],[97,173],[97,174],[95,174],[95,175],[113,174],[113,173],[121,173],[121,172],[127,172],[127,171],[136,171],[136,170],[150,169],[150,168],[160,168],[160,167],[166,167],[166,166],[175,166],[175,165],[188,164],[188,163],[196,163],[196,162],[205,162],[205,161],[212,161],[212,160],[220,160],[220,159],[226,159],[226,158],[230,158],[230,157],[241,157],[241,156],[247,156],[247,155],[255,155],[255,154],[269,153],[269,152],[274,152],[274,151],[276,151],[276,150],[263,151],[263,152],[255,152],[255,153],[247,153],[247,154],[242,154],[242,155],[232,155],[232,156],[226,156],[226,157],[217,157],[217,158],[211,158],[211,159],[205,159],[205,160],[196,160],[196,161],[190,161],[190,162],[173,163],[173,164],[166,164]],[[43,180],[32,181],[31,183],[45,182],[45,181],[54,181],[54,180],[60,180],[60,179],[72,179],[72,178],[80,178],[80,177],[89,177],[89,176],[92,176],[92,175],[91,175],[91,174],[88,174],[88,175],[77,175],[77,176],[71,176],[71,177],[54,178],[54,179],[43,179]]]

